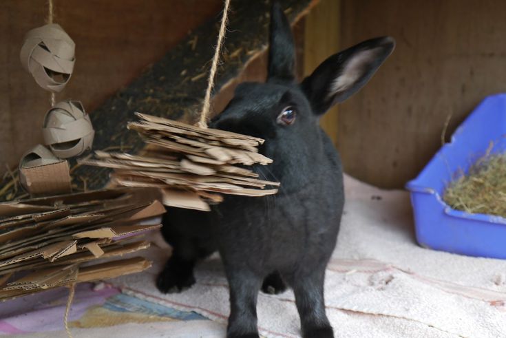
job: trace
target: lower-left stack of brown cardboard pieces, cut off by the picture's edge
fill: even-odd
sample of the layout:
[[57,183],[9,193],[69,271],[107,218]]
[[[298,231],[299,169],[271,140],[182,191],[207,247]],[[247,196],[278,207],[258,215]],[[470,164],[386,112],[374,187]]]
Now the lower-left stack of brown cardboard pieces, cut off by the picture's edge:
[[[145,231],[165,212],[145,189],[107,189],[0,203],[0,300],[145,270]],[[109,260],[104,260],[105,258]]]

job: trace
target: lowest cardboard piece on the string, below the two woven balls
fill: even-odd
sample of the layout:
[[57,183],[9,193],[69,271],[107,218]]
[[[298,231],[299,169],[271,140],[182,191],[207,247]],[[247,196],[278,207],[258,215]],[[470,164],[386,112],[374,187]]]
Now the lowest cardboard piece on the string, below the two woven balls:
[[70,169],[43,145],[26,152],[19,162],[19,181],[30,195],[69,193]]

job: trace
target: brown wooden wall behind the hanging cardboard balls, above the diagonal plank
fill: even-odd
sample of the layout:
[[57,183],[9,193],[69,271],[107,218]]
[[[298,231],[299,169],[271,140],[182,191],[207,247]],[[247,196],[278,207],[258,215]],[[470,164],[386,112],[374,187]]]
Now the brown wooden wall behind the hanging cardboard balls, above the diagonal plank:
[[[222,10],[221,0],[54,0],[56,23],[76,42],[74,74],[57,100],[92,112],[160,59],[192,28]],[[0,173],[42,142],[49,92],[19,63],[23,35],[43,25],[47,0],[0,1]]]

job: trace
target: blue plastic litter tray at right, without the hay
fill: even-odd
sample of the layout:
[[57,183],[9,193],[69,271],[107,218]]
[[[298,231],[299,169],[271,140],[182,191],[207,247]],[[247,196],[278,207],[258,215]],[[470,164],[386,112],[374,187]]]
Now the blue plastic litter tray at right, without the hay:
[[506,151],[506,94],[488,96],[406,184],[411,192],[417,241],[421,246],[463,255],[506,259],[506,218],[452,209],[445,187],[487,153]]

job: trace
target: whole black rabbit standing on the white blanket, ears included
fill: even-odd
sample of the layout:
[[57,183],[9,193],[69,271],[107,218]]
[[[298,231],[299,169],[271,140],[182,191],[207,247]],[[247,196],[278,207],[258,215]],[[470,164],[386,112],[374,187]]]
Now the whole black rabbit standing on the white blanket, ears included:
[[357,92],[394,49],[371,39],[330,56],[295,83],[295,51],[279,5],[271,12],[266,83],[242,83],[210,127],[265,139],[272,165],[253,169],[281,182],[276,196],[226,196],[209,213],[169,208],[162,233],[173,254],[158,276],[163,293],[195,283],[198,260],[220,251],[230,288],[227,337],[258,337],[260,288],[293,288],[304,337],[333,337],[325,314],[324,275],[344,204],[341,161],[319,117]]

